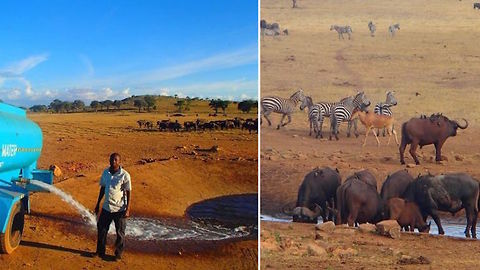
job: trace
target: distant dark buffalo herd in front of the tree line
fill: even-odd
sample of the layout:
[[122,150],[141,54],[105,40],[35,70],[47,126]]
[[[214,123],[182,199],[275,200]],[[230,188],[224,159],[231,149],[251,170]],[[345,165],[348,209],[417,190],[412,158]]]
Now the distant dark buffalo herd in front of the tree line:
[[[154,124],[152,121],[138,120],[137,124],[139,128],[145,128],[147,130],[154,129]],[[243,119],[239,117],[235,117],[234,119],[216,121],[205,121],[202,119],[197,119],[196,121],[185,121],[183,122],[183,125],[178,122],[178,120],[171,121],[170,119],[168,119],[157,121],[156,127],[160,131],[171,132],[242,129],[248,130],[249,133],[258,133],[258,119]]]

